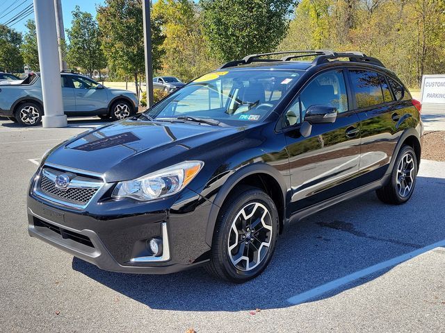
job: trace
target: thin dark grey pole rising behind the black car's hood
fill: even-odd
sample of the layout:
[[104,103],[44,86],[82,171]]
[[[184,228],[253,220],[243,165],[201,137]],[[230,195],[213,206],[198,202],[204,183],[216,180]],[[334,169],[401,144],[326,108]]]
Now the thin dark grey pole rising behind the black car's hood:
[[142,1],[144,45],[145,45],[145,87],[147,88],[147,107],[153,105],[153,62],[152,62],[152,31],[150,24],[150,0]]

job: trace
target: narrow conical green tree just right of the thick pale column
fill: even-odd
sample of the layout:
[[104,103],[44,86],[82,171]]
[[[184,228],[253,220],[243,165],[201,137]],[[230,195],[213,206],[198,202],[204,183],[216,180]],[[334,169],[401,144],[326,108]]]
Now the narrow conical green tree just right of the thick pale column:
[[71,28],[67,29],[67,62],[70,67],[80,67],[92,76],[95,69],[106,67],[99,26],[92,15],[81,12],[79,6],[75,7],[72,16]]

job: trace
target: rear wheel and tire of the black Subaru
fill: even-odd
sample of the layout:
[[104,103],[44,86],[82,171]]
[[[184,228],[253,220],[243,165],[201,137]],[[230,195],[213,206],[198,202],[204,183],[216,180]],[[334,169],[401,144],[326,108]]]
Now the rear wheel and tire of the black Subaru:
[[417,157],[411,146],[403,146],[397,155],[391,179],[375,191],[383,203],[401,205],[410,200],[417,178]]

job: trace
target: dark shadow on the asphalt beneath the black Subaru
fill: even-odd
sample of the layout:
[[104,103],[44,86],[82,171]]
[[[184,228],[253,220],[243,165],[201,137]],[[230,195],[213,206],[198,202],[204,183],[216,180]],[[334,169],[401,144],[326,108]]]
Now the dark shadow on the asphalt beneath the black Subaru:
[[[77,258],[72,268],[152,309],[289,307],[286,300],[291,296],[445,239],[445,210],[437,210],[445,204],[444,189],[445,179],[419,177],[405,205],[384,205],[370,193],[309,216],[282,234],[266,271],[245,284],[221,282],[202,268],[170,275],[131,275],[102,271]],[[318,299],[367,281],[357,280]]]

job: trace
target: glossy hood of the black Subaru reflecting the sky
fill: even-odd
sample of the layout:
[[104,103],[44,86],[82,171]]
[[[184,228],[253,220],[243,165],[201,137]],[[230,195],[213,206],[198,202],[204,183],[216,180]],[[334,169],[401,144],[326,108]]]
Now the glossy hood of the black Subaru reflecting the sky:
[[124,120],[60,144],[44,162],[100,173],[107,182],[129,180],[208,153],[209,142],[228,142],[243,128]]

